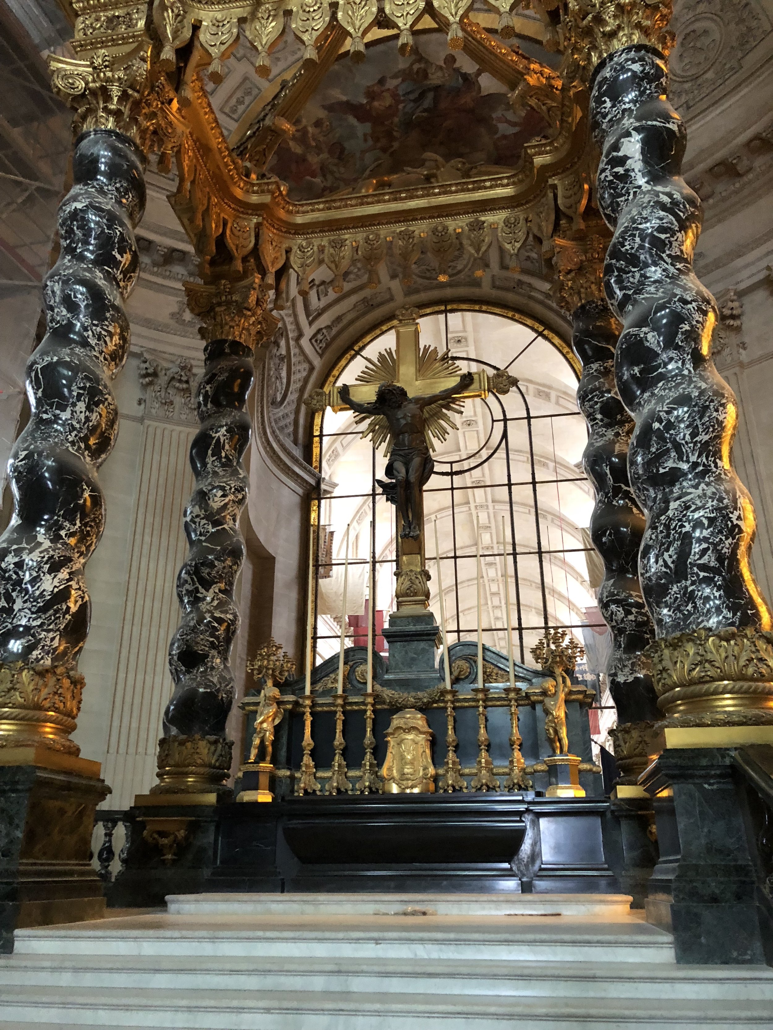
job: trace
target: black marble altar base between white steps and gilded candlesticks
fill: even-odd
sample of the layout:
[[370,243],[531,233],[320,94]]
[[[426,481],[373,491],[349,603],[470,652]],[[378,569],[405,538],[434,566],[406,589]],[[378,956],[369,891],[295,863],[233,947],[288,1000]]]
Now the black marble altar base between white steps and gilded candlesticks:
[[206,891],[618,890],[607,801],[370,794],[217,811]]

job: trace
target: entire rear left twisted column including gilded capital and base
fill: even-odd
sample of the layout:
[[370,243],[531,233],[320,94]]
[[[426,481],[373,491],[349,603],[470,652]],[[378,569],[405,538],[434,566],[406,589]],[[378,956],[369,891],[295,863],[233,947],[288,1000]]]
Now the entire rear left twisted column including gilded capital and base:
[[182,620],[169,646],[174,692],[164,713],[161,783],[154,788],[162,792],[216,789],[230,768],[231,742],[224,737],[234,695],[229,656],[239,628],[234,585],[244,560],[246,401],[256,342],[277,324],[260,283],[253,274],[237,283],[186,284],[208,342],[196,396],[201,427],[191,445],[196,486],[184,513],[190,550],[177,576]]

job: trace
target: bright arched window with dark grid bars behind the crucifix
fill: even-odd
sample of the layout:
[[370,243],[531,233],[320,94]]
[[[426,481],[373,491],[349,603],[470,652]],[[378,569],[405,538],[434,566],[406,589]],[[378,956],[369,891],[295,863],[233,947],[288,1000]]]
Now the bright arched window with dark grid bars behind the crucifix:
[[[447,348],[462,370],[485,368],[491,375],[506,369],[518,380],[505,396],[467,400],[453,417],[456,428],[436,446],[435,473],[425,488],[432,610],[439,621],[437,521],[449,643],[475,639],[479,525],[484,643],[506,650],[507,575],[516,660],[533,663],[530,648],[547,626],[565,627],[582,644],[581,626],[596,605],[586,529],[594,501],[581,466],[587,434],[576,404],[576,359],[554,335],[522,315],[436,307],[422,315],[419,325],[422,346],[440,353]],[[394,345],[392,330],[362,341],[327,385],[352,383],[369,357]],[[347,525],[347,643],[365,644],[366,619],[373,618],[377,649],[384,651],[377,630],[395,607],[395,509],[376,480],[383,478],[386,458],[361,439],[349,411],[317,416],[313,453],[322,472],[315,502],[316,661],[339,649]],[[366,615],[371,548],[375,604]]]

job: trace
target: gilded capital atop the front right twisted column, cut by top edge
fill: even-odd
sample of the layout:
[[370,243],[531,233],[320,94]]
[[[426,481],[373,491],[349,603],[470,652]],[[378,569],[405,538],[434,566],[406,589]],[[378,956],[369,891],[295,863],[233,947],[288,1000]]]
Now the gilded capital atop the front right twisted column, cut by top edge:
[[668,55],[674,44],[668,30],[672,13],[672,0],[566,0],[564,77],[587,83],[603,58],[635,43]]

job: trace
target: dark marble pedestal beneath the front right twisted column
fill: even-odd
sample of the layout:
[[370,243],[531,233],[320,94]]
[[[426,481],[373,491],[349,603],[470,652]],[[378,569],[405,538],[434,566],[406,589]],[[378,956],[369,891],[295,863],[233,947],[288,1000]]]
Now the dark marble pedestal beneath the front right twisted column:
[[639,782],[652,797],[660,861],[646,915],[680,963],[773,960],[732,748],[667,749]]

